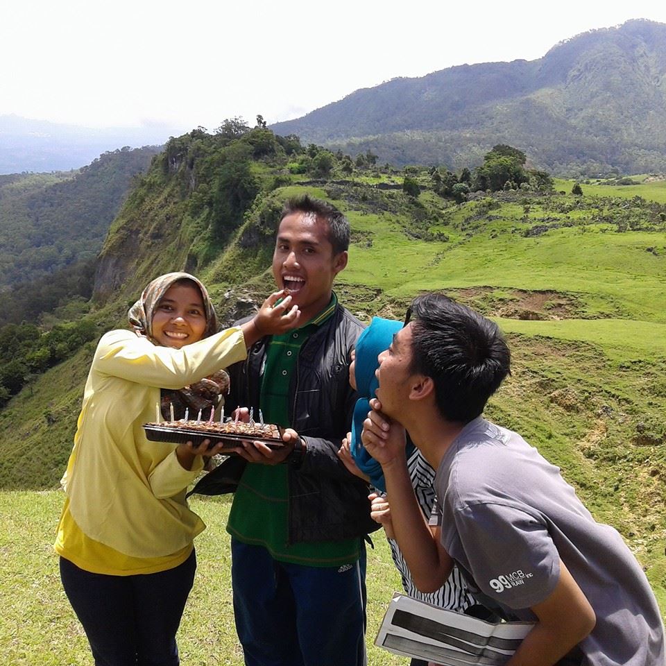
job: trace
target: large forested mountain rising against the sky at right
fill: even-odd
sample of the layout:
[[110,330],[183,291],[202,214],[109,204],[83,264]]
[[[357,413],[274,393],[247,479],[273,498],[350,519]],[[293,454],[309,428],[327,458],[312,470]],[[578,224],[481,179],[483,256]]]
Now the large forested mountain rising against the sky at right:
[[666,24],[635,19],[538,60],[395,78],[271,128],[392,164],[459,169],[510,144],[560,175],[666,171]]

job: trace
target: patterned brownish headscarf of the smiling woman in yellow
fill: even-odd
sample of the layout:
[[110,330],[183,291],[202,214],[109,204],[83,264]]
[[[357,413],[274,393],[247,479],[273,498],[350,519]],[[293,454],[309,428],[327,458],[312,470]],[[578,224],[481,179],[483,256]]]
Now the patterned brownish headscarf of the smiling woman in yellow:
[[[207,338],[217,332],[218,324],[215,308],[203,284],[189,273],[167,273],[166,275],[160,275],[159,278],[155,278],[153,282],[148,284],[148,287],[142,291],[141,298],[127,311],[130,326],[137,335],[145,336],[154,345],[159,344],[153,338],[155,309],[160,305],[160,300],[169,291],[170,287],[181,280],[194,283],[201,293],[206,315],[206,327],[202,337]],[[170,418],[171,406],[173,405],[176,418],[183,418],[185,409],[189,409],[193,415],[192,418],[195,418],[198,410],[207,413],[211,407],[215,407],[219,402],[219,396],[224,395],[228,390],[229,375],[225,370],[218,370],[214,375],[205,377],[196,384],[191,384],[191,386],[183,386],[178,391],[162,388],[162,416],[167,419]]]

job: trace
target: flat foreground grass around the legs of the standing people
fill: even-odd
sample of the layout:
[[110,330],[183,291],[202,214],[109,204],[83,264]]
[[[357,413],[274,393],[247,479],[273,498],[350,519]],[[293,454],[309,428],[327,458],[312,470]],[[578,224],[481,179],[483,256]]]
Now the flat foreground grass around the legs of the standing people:
[[[53,552],[62,493],[0,492],[0,646],[12,666],[91,666],[87,641],[60,585]],[[198,570],[178,633],[183,665],[241,666],[234,629],[229,538],[230,504],[194,499],[207,529],[197,538]],[[373,645],[400,579],[382,532],[368,549],[368,663],[398,666],[406,660]]]

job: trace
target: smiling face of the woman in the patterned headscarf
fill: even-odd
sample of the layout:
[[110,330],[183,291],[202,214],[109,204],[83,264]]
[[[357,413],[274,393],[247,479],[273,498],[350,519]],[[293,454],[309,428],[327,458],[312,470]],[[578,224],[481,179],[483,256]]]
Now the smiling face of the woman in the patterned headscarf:
[[163,347],[180,349],[198,342],[206,330],[206,311],[200,291],[191,282],[167,289],[153,314],[153,339]]

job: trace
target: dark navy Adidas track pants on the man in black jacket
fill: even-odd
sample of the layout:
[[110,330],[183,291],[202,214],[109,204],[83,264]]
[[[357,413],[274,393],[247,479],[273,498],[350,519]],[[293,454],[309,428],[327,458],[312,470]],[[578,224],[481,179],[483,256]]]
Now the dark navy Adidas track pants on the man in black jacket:
[[236,631],[246,666],[366,664],[365,547],[343,567],[275,561],[232,538]]

